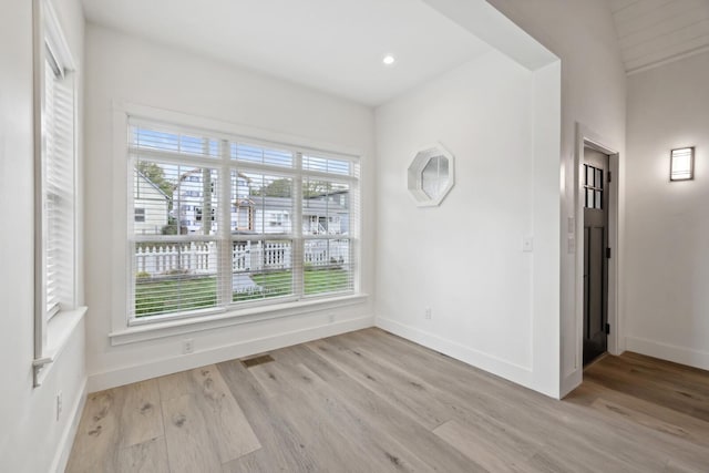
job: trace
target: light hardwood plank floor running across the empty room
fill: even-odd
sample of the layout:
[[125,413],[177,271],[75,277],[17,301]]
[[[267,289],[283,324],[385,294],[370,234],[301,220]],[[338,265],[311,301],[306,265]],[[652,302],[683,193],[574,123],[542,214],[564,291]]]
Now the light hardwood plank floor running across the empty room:
[[379,329],[90,394],[69,472],[709,472],[709,372],[627,353],[555,401]]

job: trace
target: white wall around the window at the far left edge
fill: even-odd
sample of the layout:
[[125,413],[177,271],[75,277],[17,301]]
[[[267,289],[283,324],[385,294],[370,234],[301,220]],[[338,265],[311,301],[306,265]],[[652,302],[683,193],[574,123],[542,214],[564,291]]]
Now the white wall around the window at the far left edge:
[[[81,71],[83,14],[78,1],[54,8]],[[74,413],[85,383],[83,325],[49,368],[44,383],[32,388],[33,359],[33,137],[32,2],[11,0],[0,16],[0,202],[10,226],[0,236],[0,470],[49,472],[63,469],[71,448]],[[81,101],[81,81],[79,95]],[[55,395],[63,413],[55,420]]]

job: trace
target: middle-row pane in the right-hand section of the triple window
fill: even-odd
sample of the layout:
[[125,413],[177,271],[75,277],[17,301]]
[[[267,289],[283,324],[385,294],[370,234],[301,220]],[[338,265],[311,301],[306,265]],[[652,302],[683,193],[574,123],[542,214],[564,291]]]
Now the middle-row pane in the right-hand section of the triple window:
[[306,177],[302,197],[304,235],[349,234],[349,184]]

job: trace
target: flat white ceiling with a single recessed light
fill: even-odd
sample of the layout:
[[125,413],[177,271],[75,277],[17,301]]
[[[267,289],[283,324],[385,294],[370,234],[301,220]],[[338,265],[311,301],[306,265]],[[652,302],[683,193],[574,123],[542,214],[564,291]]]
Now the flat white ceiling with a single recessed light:
[[[86,19],[368,105],[490,51],[422,0],[83,0]],[[384,66],[382,58],[397,58]]]

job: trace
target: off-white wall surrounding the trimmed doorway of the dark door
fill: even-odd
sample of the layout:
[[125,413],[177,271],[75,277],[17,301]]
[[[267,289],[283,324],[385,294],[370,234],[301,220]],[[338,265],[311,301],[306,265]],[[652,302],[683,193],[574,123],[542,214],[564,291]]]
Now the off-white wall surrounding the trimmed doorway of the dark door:
[[[575,255],[568,251],[568,218],[576,218],[574,194],[575,125],[580,123],[603,138],[606,147],[619,153],[618,193],[618,280],[626,276],[625,251],[625,127],[626,75],[610,8],[603,1],[558,0],[487,0],[493,7],[530,33],[562,61],[562,138],[559,183],[559,257],[561,257],[561,380],[565,395],[582,381],[580,345],[577,338],[580,301],[575,297]],[[617,310],[623,322],[627,315],[623,291]],[[618,330],[624,349],[624,326]],[[554,337],[555,333],[549,333]]]

